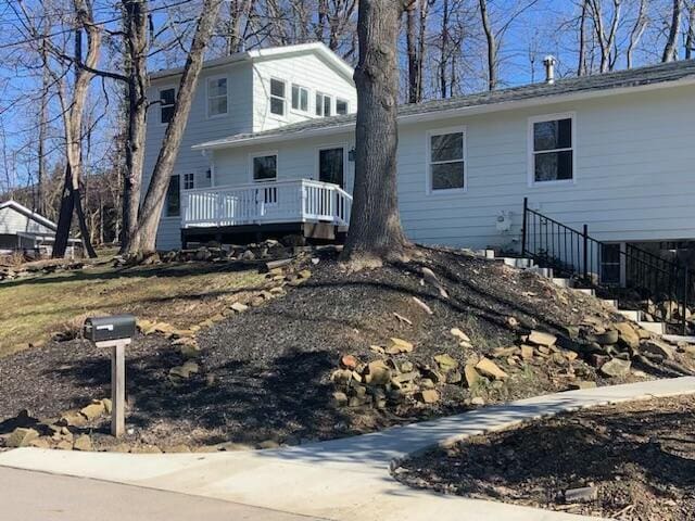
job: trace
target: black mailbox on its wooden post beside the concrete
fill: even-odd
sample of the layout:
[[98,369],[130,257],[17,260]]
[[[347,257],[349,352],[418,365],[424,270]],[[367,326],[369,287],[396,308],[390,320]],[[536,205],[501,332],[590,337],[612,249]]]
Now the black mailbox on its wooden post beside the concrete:
[[135,336],[132,315],[88,318],[85,338],[97,347],[111,348],[111,434],[123,436],[126,427],[126,346]]

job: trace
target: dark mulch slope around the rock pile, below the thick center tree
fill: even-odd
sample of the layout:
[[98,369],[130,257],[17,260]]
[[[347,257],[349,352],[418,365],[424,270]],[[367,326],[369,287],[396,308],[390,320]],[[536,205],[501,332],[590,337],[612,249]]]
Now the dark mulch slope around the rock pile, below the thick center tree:
[[[422,282],[421,266],[437,272],[448,298]],[[170,342],[159,335],[136,339],[127,352],[129,441],[160,446],[304,443],[460,412],[470,408],[463,385],[446,385],[442,399],[431,405],[337,408],[330,374],[341,355],[374,359],[369,346],[383,345],[390,336],[415,344],[408,359],[416,364],[431,364],[442,353],[463,364],[470,355],[510,345],[517,333],[509,317],[520,327],[542,330],[579,323],[586,315],[610,320],[595,300],[557,289],[536,275],[443,250],[420,249],[412,263],[357,272],[344,272],[334,253],[325,253],[318,265],[308,267],[311,279],[287,287],[286,296],[201,331],[201,371],[178,384],[168,370],[184,360]],[[454,327],[471,338],[472,350],[462,351],[450,333]],[[572,365],[581,378],[598,384],[624,381],[605,381],[581,360]],[[50,418],[105,397],[109,368],[109,353],[79,340],[0,358],[0,422],[25,408]],[[567,380],[558,373],[566,369],[536,360],[509,380],[494,382],[485,401],[565,390]],[[86,428],[91,429],[105,432],[102,423]]]

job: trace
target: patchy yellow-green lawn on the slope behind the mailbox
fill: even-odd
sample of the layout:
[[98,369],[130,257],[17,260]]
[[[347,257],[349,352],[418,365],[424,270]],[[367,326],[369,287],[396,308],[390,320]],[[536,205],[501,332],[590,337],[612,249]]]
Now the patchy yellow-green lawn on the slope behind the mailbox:
[[102,260],[81,270],[0,284],[0,356],[75,330],[87,316],[132,313],[186,328],[225,308],[263,276],[211,264],[114,268]]

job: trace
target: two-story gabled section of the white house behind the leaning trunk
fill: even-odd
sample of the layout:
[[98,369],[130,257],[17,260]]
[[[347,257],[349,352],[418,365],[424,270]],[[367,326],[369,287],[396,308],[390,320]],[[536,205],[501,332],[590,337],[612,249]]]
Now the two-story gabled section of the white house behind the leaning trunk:
[[[146,177],[154,168],[166,123],[172,116],[180,74],[181,69],[168,69],[150,78],[148,97],[162,100],[162,103],[153,104],[148,114]],[[181,203],[187,201],[187,198],[181,199],[181,193],[227,183],[226,173],[218,178],[215,152],[194,150],[195,144],[354,113],[357,96],[352,75],[350,65],[321,43],[253,50],[206,62],[163,211],[157,247],[168,250],[181,244],[185,218]],[[258,165],[255,177],[248,168],[252,163]],[[239,165],[243,176],[239,176],[236,185],[267,181],[269,173],[278,166],[269,158],[251,160],[247,154],[243,164]],[[289,165],[283,163],[281,166],[285,169]],[[281,178],[290,179],[289,176]],[[251,214],[249,217],[249,224],[253,225]],[[207,221],[205,226],[212,224],[218,221]]]

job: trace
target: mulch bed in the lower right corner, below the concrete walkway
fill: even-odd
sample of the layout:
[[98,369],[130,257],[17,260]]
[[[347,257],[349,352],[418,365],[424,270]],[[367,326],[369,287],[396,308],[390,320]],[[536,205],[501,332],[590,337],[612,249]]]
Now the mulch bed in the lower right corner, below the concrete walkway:
[[[419,488],[571,513],[692,520],[695,397],[592,408],[475,436],[405,461],[394,474]],[[587,500],[566,499],[582,487],[594,488]]]

